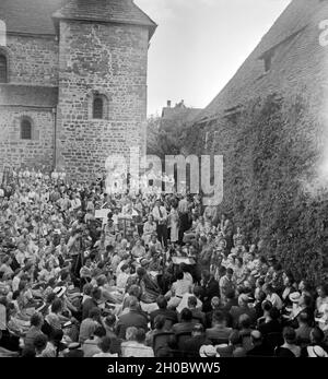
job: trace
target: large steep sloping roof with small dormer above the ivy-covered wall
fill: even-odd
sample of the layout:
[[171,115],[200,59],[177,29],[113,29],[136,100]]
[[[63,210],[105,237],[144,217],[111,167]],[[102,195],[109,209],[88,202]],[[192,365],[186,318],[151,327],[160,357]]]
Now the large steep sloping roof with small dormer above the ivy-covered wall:
[[[259,95],[296,91],[303,79],[308,83],[308,66],[314,60],[324,64],[324,59],[319,60],[325,52],[318,42],[318,24],[325,19],[328,19],[328,1],[293,0],[225,87],[199,112],[195,123],[239,111],[247,99]],[[272,58],[267,72],[266,57]]]

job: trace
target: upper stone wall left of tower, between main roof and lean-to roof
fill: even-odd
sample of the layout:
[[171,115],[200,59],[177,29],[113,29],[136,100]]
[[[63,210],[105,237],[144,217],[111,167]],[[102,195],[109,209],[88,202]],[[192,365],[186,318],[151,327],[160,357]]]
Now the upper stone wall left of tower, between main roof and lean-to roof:
[[9,35],[7,47],[10,83],[58,85],[58,42],[55,37]]

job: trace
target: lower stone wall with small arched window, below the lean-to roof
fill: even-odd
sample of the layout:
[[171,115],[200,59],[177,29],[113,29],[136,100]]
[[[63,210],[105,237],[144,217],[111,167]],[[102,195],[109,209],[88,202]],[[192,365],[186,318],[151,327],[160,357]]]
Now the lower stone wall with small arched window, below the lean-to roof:
[[[51,110],[0,107],[0,171],[4,166],[40,167],[54,165],[54,116]],[[32,140],[21,140],[20,121],[32,119]]]

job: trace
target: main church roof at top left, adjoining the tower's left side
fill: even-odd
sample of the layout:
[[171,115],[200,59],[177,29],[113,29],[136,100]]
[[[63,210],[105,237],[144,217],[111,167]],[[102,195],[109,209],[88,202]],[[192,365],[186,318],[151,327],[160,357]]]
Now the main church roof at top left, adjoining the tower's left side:
[[51,14],[65,0],[0,0],[0,20],[7,32],[56,35]]

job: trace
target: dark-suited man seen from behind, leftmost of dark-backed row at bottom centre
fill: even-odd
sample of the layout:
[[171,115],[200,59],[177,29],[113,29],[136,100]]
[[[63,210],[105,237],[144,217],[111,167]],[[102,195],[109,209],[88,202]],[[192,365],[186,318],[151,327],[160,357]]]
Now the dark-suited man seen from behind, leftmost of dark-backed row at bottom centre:
[[137,297],[131,296],[129,301],[129,311],[125,315],[121,315],[118,319],[116,327],[116,334],[118,339],[126,337],[126,330],[129,327],[141,328],[145,332],[148,331],[148,318],[145,313],[141,312],[140,305]]

